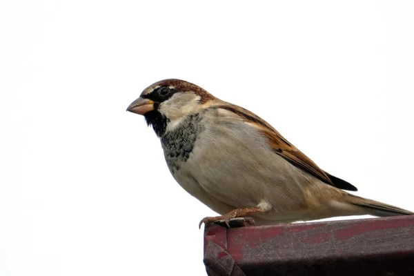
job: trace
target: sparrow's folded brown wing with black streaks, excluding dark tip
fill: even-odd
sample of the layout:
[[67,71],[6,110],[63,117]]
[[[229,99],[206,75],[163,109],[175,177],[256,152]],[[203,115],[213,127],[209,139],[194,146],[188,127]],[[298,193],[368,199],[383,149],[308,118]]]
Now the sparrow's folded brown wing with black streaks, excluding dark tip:
[[295,146],[290,144],[282,135],[280,135],[280,133],[277,132],[273,126],[270,126],[270,124],[255,115],[253,112],[235,105],[217,106],[217,108],[234,112],[239,117],[242,117],[244,121],[251,123],[255,126],[255,128],[258,128],[258,130],[262,132],[266,139],[268,139],[269,145],[273,148],[273,151],[277,153],[277,155],[284,157],[284,159],[288,160],[294,166],[310,173],[311,175],[324,181],[326,184],[334,186],[324,170],[321,170],[321,168],[313,163],[311,159],[309,159]]

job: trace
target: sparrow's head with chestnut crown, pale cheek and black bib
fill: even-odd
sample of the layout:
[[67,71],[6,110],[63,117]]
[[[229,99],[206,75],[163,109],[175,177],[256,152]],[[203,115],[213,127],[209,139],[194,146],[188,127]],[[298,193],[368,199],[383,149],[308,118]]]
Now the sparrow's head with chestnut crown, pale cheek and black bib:
[[158,137],[170,121],[200,112],[204,104],[216,99],[203,88],[180,79],[164,79],[148,86],[126,109],[144,115]]

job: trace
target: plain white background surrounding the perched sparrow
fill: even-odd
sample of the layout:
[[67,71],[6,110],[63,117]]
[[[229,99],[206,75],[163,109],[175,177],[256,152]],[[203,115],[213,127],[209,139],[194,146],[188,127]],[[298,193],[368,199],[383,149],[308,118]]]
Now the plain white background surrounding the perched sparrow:
[[125,111],[172,77],[414,210],[413,1],[141,2],[0,0],[1,276],[205,274],[215,214]]

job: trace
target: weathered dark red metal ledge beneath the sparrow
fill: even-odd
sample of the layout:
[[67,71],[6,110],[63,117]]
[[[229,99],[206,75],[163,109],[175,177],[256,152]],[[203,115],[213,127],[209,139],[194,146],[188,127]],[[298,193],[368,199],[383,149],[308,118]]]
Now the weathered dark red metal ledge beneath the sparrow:
[[204,264],[212,276],[414,275],[414,216],[230,229],[208,224]]

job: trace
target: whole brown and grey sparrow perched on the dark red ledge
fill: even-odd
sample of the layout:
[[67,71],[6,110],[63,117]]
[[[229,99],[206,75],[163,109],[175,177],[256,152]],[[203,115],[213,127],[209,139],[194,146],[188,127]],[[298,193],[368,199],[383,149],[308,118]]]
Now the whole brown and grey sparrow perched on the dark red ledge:
[[414,215],[344,190],[264,119],[179,79],[148,86],[128,106],[161,140],[175,180],[219,213],[200,221],[253,217],[257,225],[347,215]]

